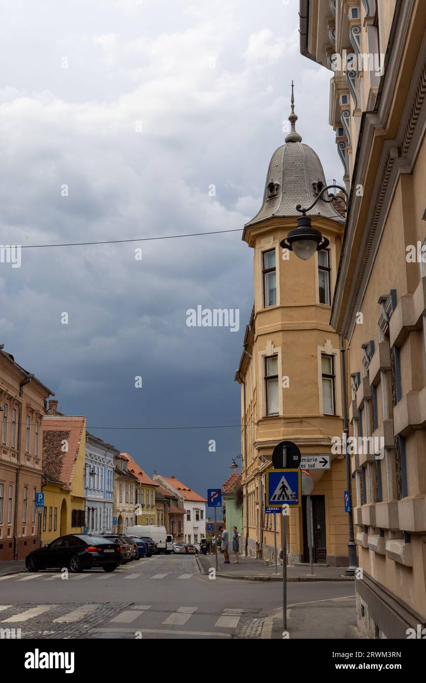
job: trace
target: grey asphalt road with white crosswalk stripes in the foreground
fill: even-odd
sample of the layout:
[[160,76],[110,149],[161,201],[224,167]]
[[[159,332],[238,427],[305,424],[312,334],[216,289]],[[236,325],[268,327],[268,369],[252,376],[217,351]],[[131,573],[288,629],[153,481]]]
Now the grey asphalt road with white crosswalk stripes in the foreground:
[[[209,579],[195,557],[158,555],[106,574],[0,577],[0,629],[22,638],[259,638],[282,605],[281,583]],[[354,595],[353,583],[289,583],[288,604]]]

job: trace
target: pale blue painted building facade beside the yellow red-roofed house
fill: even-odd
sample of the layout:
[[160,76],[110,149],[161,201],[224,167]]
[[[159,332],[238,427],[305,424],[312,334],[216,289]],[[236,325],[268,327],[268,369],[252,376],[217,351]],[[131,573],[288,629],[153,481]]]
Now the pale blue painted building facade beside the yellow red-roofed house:
[[114,469],[119,451],[86,432],[85,526],[89,533],[113,530]]

